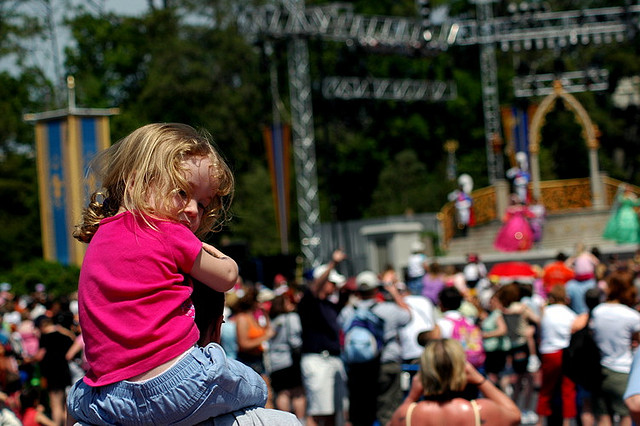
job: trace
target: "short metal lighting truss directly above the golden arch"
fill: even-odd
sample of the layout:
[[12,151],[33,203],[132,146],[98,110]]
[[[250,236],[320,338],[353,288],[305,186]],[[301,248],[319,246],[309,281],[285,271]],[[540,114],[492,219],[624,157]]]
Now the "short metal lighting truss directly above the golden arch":
[[553,93],[553,82],[560,81],[567,93],[596,92],[609,88],[609,71],[590,69],[560,74],[534,74],[513,79],[515,95],[520,98],[546,96]]

